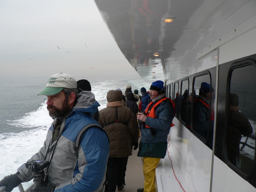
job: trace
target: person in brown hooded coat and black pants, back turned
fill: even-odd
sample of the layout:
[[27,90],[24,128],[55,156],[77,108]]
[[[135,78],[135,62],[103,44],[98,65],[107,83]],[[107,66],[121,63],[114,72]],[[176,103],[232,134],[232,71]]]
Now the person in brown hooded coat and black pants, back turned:
[[99,111],[99,124],[109,136],[109,158],[105,191],[122,190],[128,156],[138,148],[139,126],[131,109],[122,104],[122,91],[110,90],[107,107]]

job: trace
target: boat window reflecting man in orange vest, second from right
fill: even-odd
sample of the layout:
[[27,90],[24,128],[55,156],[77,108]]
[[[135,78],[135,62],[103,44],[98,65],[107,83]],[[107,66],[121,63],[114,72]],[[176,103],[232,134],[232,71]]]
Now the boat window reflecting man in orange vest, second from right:
[[214,88],[209,74],[193,79],[192,130],[212,149],[214,125]]

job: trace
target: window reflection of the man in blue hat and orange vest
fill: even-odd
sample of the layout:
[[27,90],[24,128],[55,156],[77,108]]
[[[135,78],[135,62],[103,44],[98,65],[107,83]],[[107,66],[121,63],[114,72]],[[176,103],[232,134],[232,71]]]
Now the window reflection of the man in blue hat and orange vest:
[[199,89],[199,95],[194,100],[193,104],[193,129],[199,133],[203,138],[207,138],[208,126],[209,137],[206,145],[212,149],[212,136],[213,136],[213,120],[214,114],[209,116],[210,105],[210,84],[203,82]]

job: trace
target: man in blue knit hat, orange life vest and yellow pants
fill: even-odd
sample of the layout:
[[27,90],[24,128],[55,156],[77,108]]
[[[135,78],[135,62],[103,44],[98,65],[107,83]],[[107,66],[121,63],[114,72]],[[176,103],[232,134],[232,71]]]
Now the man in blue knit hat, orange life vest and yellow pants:
[[143,157],[144,188],[137,191],[155,191],[155,168],[167,150],[167,135],[173,126],[174,103],[165,96],[163,82],[158,80],[150,86],[152,102],[147,105],[145,114],[138,113],[143,121],[138,157]]

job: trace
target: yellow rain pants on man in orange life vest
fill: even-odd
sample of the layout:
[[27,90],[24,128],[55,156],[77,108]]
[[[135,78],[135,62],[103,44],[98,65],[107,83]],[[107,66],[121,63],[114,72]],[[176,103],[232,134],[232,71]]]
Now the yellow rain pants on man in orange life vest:
[[143,157],[144,192],[155,192],[155,168],[160,158]]

